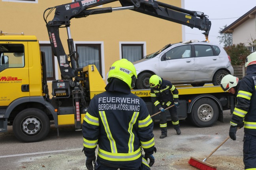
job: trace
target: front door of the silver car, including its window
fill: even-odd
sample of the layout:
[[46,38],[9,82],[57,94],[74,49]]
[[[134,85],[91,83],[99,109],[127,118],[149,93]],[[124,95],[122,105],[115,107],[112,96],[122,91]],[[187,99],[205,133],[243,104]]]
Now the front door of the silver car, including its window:
[[160,76],[172,83],[194,79],[194,58],[191,45],[176,46],[160,57]]

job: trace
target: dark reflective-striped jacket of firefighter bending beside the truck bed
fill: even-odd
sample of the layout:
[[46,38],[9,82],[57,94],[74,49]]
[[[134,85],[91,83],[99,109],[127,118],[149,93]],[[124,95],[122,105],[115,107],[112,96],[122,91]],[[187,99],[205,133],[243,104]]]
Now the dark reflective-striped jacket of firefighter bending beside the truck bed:
[[162,84],[157,88],[151,88],[151,100],[159,109],[160,107],[167,108],[174,102],[179,101],[179,91],[175,86],[167,80],[162,79]]

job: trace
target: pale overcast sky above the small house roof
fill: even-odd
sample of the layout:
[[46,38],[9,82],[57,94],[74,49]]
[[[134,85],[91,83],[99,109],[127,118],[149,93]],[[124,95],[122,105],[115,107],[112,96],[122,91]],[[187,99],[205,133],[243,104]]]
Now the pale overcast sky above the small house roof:
[[[220,44],[219,30],[225,25],[229,26],[239,17],[256,6],[256,0],[184,0],[184,9],[199,11],[208,15],[211,21],[209,41]],[[185,40],[204,41],[204,31],[185,26]],[[222,44],[223,45],[223,44]]]

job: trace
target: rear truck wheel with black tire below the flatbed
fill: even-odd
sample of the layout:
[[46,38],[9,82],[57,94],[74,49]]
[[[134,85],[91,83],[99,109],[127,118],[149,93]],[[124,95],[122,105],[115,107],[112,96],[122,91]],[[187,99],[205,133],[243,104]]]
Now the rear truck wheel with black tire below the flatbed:
[[218,106],[209,98],[201,98],[194,103],[188,117],[195,126],[211,127],[218,119]]

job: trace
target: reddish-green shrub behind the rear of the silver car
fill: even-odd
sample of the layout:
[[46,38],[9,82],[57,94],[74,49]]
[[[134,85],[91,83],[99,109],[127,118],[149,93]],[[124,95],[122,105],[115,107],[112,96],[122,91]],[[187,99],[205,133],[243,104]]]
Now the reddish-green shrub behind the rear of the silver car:
[[250,55],[250,50],[244,43],[233,44],[231,46],[224,47],[227,54],[230,56],[232,65],[245,64],[246,57]]

